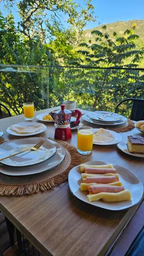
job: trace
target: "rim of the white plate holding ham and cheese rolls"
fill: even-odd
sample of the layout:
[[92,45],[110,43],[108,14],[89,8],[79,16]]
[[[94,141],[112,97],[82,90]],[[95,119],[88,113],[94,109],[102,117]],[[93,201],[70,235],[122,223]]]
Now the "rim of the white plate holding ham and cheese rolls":
[[[94,163],[93,163],[94,162]],[[99,164],[109,164],[110,162],[105,162],[105,161],[99,161],[99,160],[91,160],[91,161],[88,161],[88,162],[85,162],[85,163],[83,163],[83,164],[97,164],[97,162],[99,162]],[[118,166],[118,167],[122,167],[122,168],[124,168],[124,169],[126,169],[129,173],[131,173],[131,175],[132,176],[134,176],[136,179],[138,179],[138,181],[139,181],[139,183],[140,183],[140,185],[141,185],[141,187],[142,187],[142,192],[141,192],[141,195],[143,196],[143,184],[142,184],[142,182],[140,181],[140,179],[135,175],[135,174],[133,174],[129,169],[127,169],[126,167],[124,167],[124,166],[122,166],[122,165],[117,165],[117,164],[114,164],[114,163],[111,163],[112,165],[114,165],[115,167],[116,166]],[[69,185],[69,176],[70,176],[70,174],[71,174],[71,172],[73,172],[73,169],[75,169],[75,168],[77,168],[77,167],[79,167],[80,166],[80,164],[79,165],[77,165],[77,166],[74,166],[72,169],[70,169],[70,171],[69,171],[69,174],[68,174],[68,185]],[[96,206],[96,207],[99,207],[99,208],[102,208],[102,209],[106,209],[106,210],[112,210],[112,211],[122,211],[122,210],[125,210],[125,209],[129,209],[129,208],[132,208],[133,206],[135,206],[135,205],[137,205],[139,202],[140,202],[140,200],[141,200],[141,198],[142,198],[142,196],[141,196],[141,198],[139,199],[139,201],[138,202],[136,202],[135,204],[133,204],[133,205],[131,205],[131,206],[128,206],[128,207],[125,207],[125,208],[123,208],[123,209],[110,209],[110,208],[108,208],[108,207],[102,207],[102,206],[99,206],[99,205],[94,205],[92,202],[89,202],[89,201],[84,201],[84,200],[82,200],[81,198],[79,198],[76,194],[74,194],[74,191],[73,190],[71,190],[71,188],[70,188],[70,185],[69,185],[69,189],[70,189],[70,191],[71,191],[71,193],[75,196],[75,197],[77,197],[79,200],[81,200],[82,202],[84,202],[84,203],[87,203],[87,204],[90,204],[90,205],[92,205],[92,206]],[[80,190],[81,191],[81,190]],[[82,191],[81,191],[81,193],[82,193]],[[95,202],[99,202],[99,201],[95,201]],[[114,202],[113,202],[114,203]],[[116,203],[116,202],[115,202]]]

